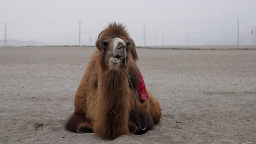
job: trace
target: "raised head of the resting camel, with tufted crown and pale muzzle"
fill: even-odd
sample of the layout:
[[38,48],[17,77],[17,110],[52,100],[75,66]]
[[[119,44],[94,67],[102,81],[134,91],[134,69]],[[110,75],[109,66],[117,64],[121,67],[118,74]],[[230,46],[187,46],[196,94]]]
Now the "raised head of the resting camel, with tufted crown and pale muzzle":
[[135,44],[121,24],[110,23],[99,35],[96,47],[101,51],[101,64],[104,68],[118,69],[127,61],[127,55],[137,59]]

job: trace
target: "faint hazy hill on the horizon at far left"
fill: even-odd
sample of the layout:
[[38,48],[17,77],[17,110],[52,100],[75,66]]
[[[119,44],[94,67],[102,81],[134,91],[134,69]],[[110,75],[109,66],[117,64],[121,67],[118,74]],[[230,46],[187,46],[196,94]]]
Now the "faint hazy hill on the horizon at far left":
[[[15,40],[15,39],[8,39],[7,41],[8,46],[42,46],[46,45],[45,43],[40,43],[35,40],[29,40],[29,41],[21,41],[21,40]],[[0,46],[3,46],[4,40],[0,40]]]

